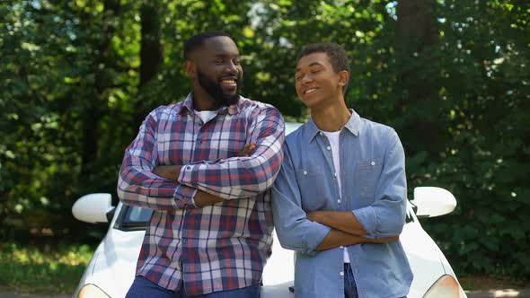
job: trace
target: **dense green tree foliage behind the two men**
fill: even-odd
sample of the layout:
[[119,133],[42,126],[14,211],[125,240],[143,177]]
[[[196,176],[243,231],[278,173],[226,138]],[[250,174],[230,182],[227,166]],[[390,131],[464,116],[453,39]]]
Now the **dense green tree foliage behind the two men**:
[[[297,51],[344,45],[348,104],[398,131],[410,191],[440,186],[458,200],[454,214],[423,224],[457,272],[530,278],[527,1],[55,3],[0,3],[4,237],[13,228],[82,234],[75,198],[114,193],[140,119],[189,92],[183,42],[224,30],[243,53],[244,95],[287,119],[307,117],[294,88]],[[413,20],[411,3],[423,5]],[[156,7],[163,59],[140,85],[146,4]]]

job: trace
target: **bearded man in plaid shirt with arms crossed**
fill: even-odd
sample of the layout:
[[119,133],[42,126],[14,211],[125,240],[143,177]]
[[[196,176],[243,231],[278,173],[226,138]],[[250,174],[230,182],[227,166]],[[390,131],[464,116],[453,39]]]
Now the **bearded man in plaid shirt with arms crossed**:
[[188,98],[147,116],[119,174],[121,201],[154,210],[127,297],[259,297],[284,121],[239,95],[225,33],[193,36],[184,57]]

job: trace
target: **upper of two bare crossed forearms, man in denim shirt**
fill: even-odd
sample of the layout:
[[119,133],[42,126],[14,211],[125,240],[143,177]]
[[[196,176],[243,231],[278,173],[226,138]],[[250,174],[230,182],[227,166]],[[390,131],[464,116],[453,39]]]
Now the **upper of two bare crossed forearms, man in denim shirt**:
[[349,211],[315,211],[309,213],[307,218],[351,235],[364,236],[367,234],[357,217]]

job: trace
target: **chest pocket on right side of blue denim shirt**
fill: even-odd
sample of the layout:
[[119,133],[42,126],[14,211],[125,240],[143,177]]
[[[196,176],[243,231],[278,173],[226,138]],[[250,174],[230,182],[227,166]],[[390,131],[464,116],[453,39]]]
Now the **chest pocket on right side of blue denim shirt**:
[[381,176],[383,160],[381,158],[362,160],[358,162],[359,197],[362,201],[374,201],[375,188]]

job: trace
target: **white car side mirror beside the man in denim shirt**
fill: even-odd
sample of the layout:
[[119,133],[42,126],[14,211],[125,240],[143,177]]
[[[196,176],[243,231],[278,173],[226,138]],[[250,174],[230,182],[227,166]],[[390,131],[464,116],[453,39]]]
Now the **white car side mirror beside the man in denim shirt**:
[[456,207],[456,199],[451,192],[434,187],[414,188],[414,200],[411,203],[417,206],[416,216],[419,218],[448,215]]

